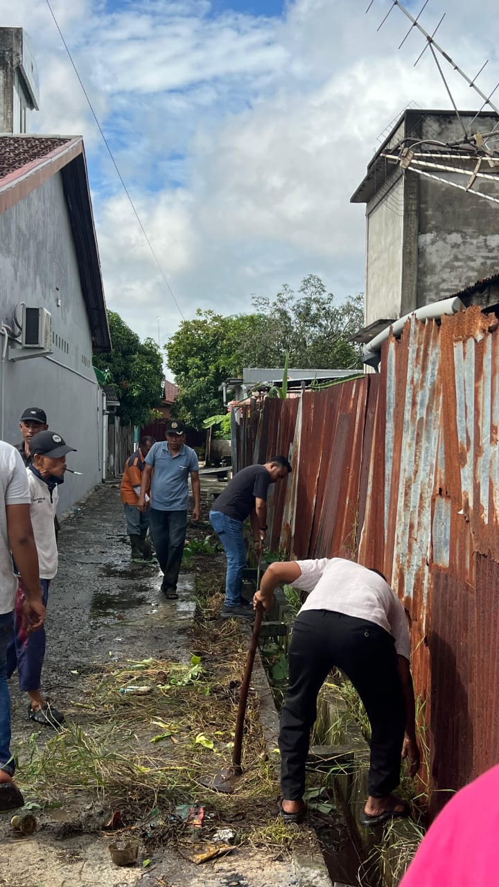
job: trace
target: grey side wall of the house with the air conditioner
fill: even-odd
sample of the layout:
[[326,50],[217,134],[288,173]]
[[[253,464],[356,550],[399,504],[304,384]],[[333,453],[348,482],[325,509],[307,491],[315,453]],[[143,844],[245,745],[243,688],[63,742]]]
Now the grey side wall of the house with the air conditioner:
[[[0,365],[0,427],[9,443],[20,441],[19,419],[28,406],[41,406],[49,426],[77,453],[68,467],[59,511],[101,480],[100,392],[91,366],[91,334],[60,174],[0,215],[0,318],[12,325],[18,302],[51,312],[55,337],[50,357]],[[58,304],[58,301],[60,304]]]

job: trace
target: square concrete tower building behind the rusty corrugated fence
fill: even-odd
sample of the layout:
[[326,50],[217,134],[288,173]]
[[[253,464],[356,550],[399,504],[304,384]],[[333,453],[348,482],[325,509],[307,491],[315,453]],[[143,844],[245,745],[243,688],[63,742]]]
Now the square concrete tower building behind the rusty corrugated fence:
[[[460,112],[473,132],[485,133],[497,115]],[[387,161],[387,149],[418,140],[458,142],[463,130],[453,111],[408,108],[395,124],[352,196],[366,204],[365,326],[356,341],[368,341],[392,320],[439,302],[497,271],[499,208],[413,169]],[[489,169],[489,168],[488,168]],[[447,175],[447,174],[446,174]],[[463,180],[449,173],[449,180]],[[499,198],[497,182],[480,190]]]

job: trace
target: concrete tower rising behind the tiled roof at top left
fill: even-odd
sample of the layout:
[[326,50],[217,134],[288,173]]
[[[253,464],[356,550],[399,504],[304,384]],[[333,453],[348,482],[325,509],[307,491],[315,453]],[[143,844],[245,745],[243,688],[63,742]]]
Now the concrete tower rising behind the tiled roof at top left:
[[22,27],[0,27],[0,132],[28,132],[38,110],[38,72]]

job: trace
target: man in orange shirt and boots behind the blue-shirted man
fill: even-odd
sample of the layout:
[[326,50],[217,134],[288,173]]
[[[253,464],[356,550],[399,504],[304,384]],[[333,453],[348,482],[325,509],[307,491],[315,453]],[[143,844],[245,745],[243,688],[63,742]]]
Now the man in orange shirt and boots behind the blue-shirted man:
[[[154,443],[154,437],[142,437],[139,448],[130,459],[127,460],[123,471],[121,494],[126,518],[126,530],[131,542],[132,561],[150,561],[151,544],[147,538],[149,529],[149,508],[140,512],[139,502],[140,484],[142,472],[146,464],[147,453]],[[150,496],[150,488],[147,488],[147,501]],[[148,544],[147,544],[148,542]]]

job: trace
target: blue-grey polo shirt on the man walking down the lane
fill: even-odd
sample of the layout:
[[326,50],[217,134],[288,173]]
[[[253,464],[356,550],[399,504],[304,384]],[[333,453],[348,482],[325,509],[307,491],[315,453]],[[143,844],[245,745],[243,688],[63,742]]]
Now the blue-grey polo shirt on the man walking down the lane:
[[151,481],[151,507],[158,511],[186,511],[189,504],[188,479],[199,471],[194,450],[184,443],[175,455],[168,441],[154,443],[146,456],[146,464],[154,468]]

